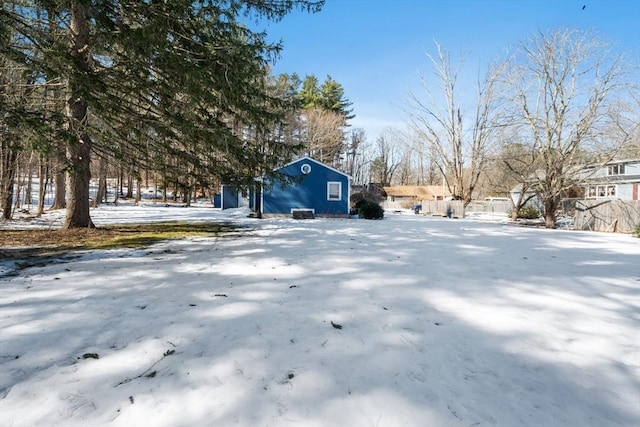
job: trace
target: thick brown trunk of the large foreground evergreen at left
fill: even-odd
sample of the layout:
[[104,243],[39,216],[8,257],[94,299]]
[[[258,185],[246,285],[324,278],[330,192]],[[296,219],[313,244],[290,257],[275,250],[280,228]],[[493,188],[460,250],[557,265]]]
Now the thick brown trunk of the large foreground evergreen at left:
[[71,98],[67,102],[67,116],[74,136],[67,142],[67,212],[63,229],[94,228],[89,214],[89,180],[91,179],[91,138],[86,132],[88,103],[79,93],[90,72],[89,26],[85,7],[71,3],[71,55],[78,59],[79,70],[69,78]]

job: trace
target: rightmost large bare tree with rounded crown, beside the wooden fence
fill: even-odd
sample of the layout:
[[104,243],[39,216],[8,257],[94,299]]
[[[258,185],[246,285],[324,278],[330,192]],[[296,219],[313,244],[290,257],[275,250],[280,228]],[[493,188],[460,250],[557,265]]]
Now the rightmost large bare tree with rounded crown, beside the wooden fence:
[[[619,106],[612,102],[614,94],[628,88],[621,59],[611,59],[606,46],[588,33],[541,32],[521,44],[507,82],[518,109],[515,123],[524,123],[524,142],[541,165],[532,185],[544,206],[545,225],[553,228],[563,194],[580,182],[580,166],[610,159],[629,141],[603,133],[620,118],[612,109]],[[629,129],[630,123],[619,124]]]

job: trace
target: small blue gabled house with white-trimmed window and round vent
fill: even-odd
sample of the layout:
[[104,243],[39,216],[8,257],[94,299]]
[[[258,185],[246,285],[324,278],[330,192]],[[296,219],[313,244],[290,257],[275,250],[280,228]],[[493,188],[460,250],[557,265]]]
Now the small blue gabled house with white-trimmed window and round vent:
[[280,178],[265,179],[255,207],[263,217],[348,217],[349,175],[310,157],[276,170]]

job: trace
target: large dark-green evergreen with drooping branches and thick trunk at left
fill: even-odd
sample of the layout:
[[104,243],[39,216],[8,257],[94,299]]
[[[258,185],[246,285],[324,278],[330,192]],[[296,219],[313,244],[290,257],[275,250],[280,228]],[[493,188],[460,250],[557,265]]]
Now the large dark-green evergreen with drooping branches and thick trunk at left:
[[[33,71],[38,85],[54,79],[64,85],[65,109],[50,114],[64,117],[62,125],[22,120],[49,127],[65,147],[64,227],[93,226],[88,189],[95,150],[140,160],[179,159],[198,179],[238,183],[249,182],[256,169],[275,166],[278,156],[265,158],[263,141],[244,136],[248,129],[269,138],[287,109],[266,81],[267,63],[280,45],[238,17],[277,20],[293,8],[318,11],[323,3],[3,2],[2,58]],[[276,154],[288,149],[276,143],[270,148]]]

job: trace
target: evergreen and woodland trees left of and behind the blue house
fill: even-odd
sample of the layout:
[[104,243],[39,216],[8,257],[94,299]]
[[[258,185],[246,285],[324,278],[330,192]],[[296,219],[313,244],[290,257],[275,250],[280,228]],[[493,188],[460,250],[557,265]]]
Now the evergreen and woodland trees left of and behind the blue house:
[[282,46],[241,22],[318,12],[323,3],[3,2],[3,217],[11,216],[18,165],[34,161],[41,188],[55,181],[64,228],[77,228],[94,226],[92,174],[100,199],[114,165],[129,191],[152,174],[190,195],[221,182],[249,185],[305,150],[335,157],[334,140],[352,117],[342,86],[272,76]]

